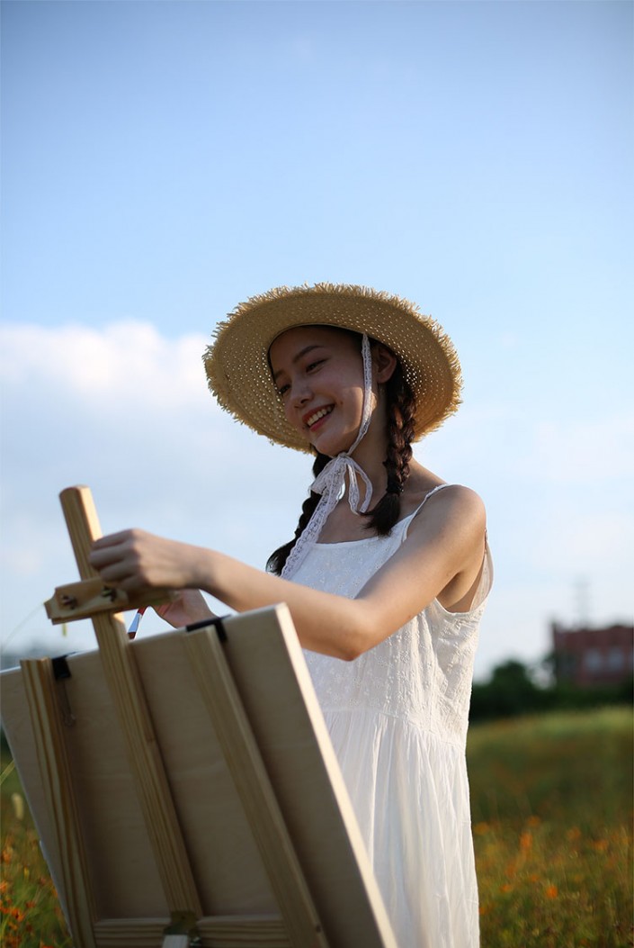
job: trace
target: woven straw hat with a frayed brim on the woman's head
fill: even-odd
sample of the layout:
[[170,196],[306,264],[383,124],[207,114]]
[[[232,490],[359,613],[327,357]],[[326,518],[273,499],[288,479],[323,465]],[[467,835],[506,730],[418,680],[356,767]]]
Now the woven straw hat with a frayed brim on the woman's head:
[[269,348],[294,326],[338,326],[383,342],[399,357],[416,398],[414,441],[460,405],[462,376],[449,337],[414,303],[365,286],[280,286],[239,303],[204,353],[209,389],[223,409],[279,445],[310,451],[275,392]]

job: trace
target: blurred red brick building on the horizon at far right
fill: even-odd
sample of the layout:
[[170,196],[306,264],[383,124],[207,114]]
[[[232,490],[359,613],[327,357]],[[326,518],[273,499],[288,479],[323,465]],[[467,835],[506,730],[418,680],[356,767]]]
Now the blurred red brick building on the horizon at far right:
[[634,672],[634,626],[564,629],[551,626],[557,684],[622,684]]

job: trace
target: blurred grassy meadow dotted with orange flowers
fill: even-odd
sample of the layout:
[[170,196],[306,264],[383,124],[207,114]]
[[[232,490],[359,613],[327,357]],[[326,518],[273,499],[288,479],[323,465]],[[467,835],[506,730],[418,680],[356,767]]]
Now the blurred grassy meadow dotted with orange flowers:
[[[634,944],[631,710],[474,726],[468,761],[483,948]],[[0,944],[70,948],[10,758],[2,773]]]

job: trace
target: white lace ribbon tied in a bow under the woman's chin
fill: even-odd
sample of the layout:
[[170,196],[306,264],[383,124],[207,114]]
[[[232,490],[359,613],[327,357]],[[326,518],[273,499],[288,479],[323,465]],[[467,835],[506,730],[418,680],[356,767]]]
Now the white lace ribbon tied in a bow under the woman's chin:
[[[365,333],[361,340],[361,356],[363,358],[363,406],[359,432],[351,447],[328,461],[310,485],[311,491],[322,496],[284,565],[282,575],[285,579],[289,579],[297,572],[300,564],[307,556],[308,550],[319,539],[326,520],[343,495],[346,475],[348,479],[348,503],[353,514],[364,514],[370,506],[370,501],[372,501],[372,483],[370,483],[370,479],[361,465],[358,465],[352,457],[353,451],[356,450],[361,439],[367,433],[372,416],[372,353],[370,351],[370,341]],[[361,478],[365,486],[365,493],[361,502],[358,478]]]

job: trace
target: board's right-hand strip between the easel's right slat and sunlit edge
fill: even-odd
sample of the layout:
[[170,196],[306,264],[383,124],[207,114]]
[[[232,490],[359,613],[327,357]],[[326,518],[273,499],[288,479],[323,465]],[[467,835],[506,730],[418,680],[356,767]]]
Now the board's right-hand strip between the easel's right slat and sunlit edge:
[[329,942],[396,948],[290,611],[237,615],[224,629],[227,664]]

